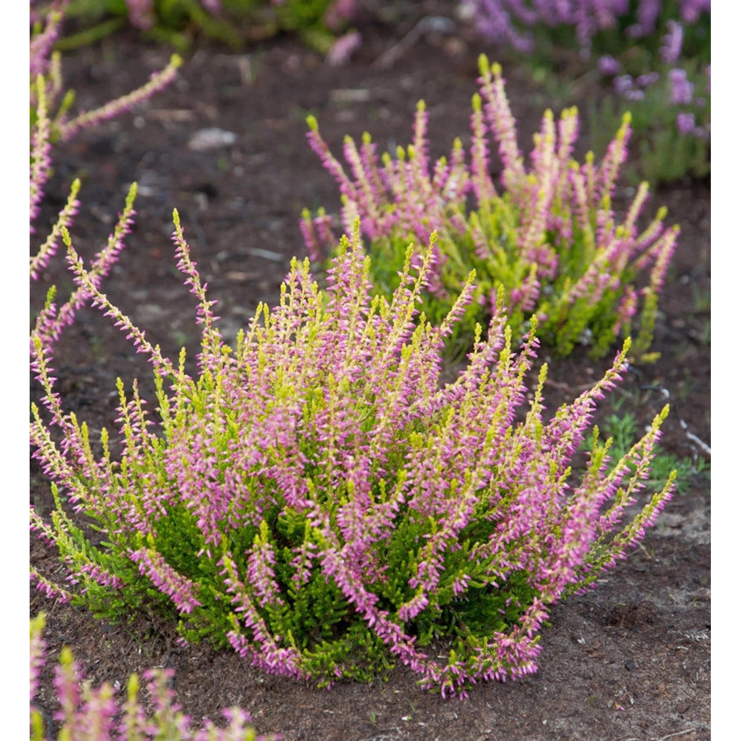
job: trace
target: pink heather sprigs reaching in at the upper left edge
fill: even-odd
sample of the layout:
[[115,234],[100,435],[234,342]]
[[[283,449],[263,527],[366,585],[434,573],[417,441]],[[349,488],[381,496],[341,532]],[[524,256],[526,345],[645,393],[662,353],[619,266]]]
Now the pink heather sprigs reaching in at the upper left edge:
[[[33,0],[32,0],[33,3]],[[104,104],[95,110],[83,111],[70,116],[74,93],[64,92],[62,82],[62,58],[53,51],[58,41],[68,0],[55,0],[43,14],[31,13],[33,24],[30,40],[30,233],[36,234],[44,187],[52,173],[52,145],[54,142],[71,139],[76,133],[95,127],[104,121],[119,116],[124,111],[167,87],[173,82],[181,59],[173,56],[162,72],[155,73],[150,81],[129,93]],[[79,180],[70,187],[67,203],[59,212],[56,222],[36,254],[30,257],[30,277],[36,280],[41,270],[56,253],[62,227],[69,228],[79,208],[77,195]]]

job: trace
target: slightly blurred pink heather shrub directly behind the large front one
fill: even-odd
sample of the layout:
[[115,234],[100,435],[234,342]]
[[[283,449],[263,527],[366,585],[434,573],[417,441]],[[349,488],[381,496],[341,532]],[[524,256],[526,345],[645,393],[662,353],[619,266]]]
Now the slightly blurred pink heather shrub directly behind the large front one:
[[[398,285],[409,243],[424,242],[436,230],[425,313],[434,321],[442,319],[475,269],[479,287],[462,324],[464,336],[473,333],[482,314],[494,312],[503,287],[515,333],[535,313],[540,338],[556,353],[566,355],[576,342],[585,342],[599,357],[636,328],[634,355],[641,356],[651,342],[678,227],[663,225],[662,208],[639,230],[647,183],[637,190],[622,222],[614,211],[612,196],[627,153],[630,119],[624,119],[601,164],[589,153],[579,165],[571,157],[579,131],[576,109],[565,110],[557,123],[548,110],[528,168],[517,147],[501,68],[490,67],[485,56],[479,67],[481,95],[473,96],[468,163],[459,140],[448,159],[430,162],[422,102],[413,143],[408,150],[399,147],[396,159],[388,153],[379,159],[368,134],[359,147],[346,137],[350,173],[330,153],[310,117],[309,142],[342,193],[343,229],[349,231],[360,218],[370,239],[373,281],[387,294]],[[488,132],[504,168],[499,191],[490,174]],[[323,210],[313,218],[305,210],[301,226],[311,259],[321,264],[336,245],[331,219]]]

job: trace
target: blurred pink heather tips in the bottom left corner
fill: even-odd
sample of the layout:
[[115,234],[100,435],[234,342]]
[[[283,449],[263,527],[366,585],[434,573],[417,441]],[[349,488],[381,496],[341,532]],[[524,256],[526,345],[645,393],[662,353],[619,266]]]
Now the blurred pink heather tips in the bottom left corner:
[[[46,643],[43,639],[46,617],[44,613],[30,621],[30,738],[45,741],[50,738],[44,728],[41,711],[34,705],[39,691],[39,675],[44,669]],[[202,728],[193,728],[175,702],[170,689],[173,671],[151,669],[144,673],[147,694],[153,711],[150,715],[138,700],[140,681],[137,674],[129,677],[125,699],[116,700],[116,691],[107,682],[99,688],[83,681],[78,663],[66,646],[62,648],[59,664],[54,670],[54,687],[59,711],[54,720],[59,722],[59,739],[74,741],[144,741],[168,739],[172,741],[268,741],[257,737],[248,725],[249,714],[240,708],[228,708],[224,716],[228,725],[217,727],[205,718]],[[51,729],[48,729],[49,731]]]

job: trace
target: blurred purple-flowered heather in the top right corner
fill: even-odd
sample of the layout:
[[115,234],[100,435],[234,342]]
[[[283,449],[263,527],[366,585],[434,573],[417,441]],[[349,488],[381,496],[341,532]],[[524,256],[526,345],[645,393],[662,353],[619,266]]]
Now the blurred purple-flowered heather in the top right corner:
[[587,111],[595,150],[631,111],[634,182],[708,175],[710,0],[464,0],[462,8],[545,87],[562,87],[568,66],[575,84],[601,86]]

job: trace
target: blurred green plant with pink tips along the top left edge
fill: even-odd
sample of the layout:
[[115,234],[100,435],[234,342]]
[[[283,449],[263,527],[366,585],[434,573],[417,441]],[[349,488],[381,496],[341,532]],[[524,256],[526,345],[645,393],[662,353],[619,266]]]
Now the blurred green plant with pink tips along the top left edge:
[[125,27],[185,52],[194,39],[239,50],[250,41],[298,33],[328,53],[356,13],[356,0],[71,0],[76,32],[60,48],[84,46]]

